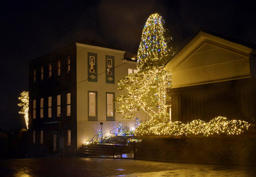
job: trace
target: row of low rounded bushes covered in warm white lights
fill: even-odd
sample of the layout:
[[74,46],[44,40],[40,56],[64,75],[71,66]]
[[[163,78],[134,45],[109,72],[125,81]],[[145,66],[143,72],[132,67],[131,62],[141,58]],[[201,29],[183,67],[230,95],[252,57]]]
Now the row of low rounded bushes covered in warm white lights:
[[160,123],[148,121],[139,125],[134,131],[135,136],[157,135],[157,136],[189,136],[189,135],[238,135],[248,131],[250,124],[246,121],[228,121],[225,117],[215,117],[206,123],[200,119],[190,123],[182,122]]

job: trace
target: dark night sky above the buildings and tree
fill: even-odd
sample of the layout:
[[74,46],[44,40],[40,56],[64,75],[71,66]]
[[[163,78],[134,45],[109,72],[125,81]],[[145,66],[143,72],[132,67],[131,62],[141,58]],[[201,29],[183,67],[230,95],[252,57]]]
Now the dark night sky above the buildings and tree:
[[200,27],[256,44],[251,1],[1,1],[0,128],[25,127],[18,96],[28,90],[27,62],[82,39],[137,53],[148,16],[159,13],[178,48]]

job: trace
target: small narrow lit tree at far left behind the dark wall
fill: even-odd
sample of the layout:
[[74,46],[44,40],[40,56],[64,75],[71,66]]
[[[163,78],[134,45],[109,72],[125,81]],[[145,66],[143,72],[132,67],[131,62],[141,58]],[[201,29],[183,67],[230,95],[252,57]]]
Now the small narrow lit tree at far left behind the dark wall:
[[22,107],[19,114],[24,114],[26,127],[28,129],[28,91],[23,91],[18,99],[21,100],[21,103],[18,103],[18,106]]

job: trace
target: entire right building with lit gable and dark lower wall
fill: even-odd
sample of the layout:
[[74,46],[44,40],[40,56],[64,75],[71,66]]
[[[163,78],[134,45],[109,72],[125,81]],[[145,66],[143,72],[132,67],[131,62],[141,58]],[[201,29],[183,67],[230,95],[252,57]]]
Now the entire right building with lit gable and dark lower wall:
[[172,72],[172,121],[256,117],[256,58],[253,48],[199,32],[165,66]]

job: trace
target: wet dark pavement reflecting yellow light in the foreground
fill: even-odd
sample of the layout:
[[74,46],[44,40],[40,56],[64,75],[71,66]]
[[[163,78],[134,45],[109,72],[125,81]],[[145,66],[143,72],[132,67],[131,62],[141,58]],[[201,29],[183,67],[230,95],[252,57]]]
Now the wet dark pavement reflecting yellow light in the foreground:
[[103,158],[5,159],[0,160],[0,176],[256,176],[255,167]]

